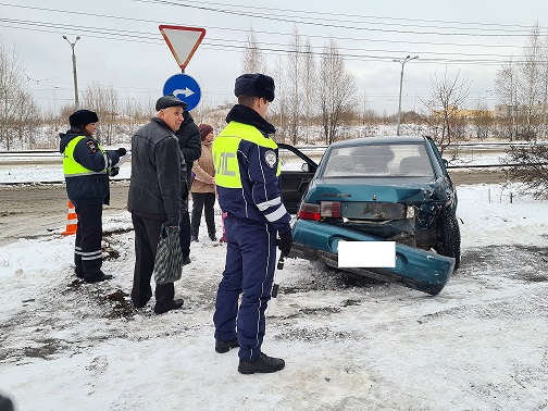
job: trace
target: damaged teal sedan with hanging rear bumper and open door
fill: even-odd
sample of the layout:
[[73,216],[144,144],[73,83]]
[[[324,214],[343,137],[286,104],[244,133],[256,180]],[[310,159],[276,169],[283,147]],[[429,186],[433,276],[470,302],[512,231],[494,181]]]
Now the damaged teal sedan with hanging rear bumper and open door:
[[303,174],[282,173],[286,208],[294,207],[286,196],[300,198],[294,226],[295,257],[337,266],[339,240],[395,241],[396,267],[348,271],[433,295],[441,290],[460,263],[458,199],[431,138],[337,141],[317,166],[304,154],[299,157],[306,161]]

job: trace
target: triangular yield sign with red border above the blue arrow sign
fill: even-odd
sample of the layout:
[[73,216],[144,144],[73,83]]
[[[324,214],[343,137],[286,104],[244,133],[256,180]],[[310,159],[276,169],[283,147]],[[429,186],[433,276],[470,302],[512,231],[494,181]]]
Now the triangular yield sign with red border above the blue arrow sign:
[[182,70],[185,70],[205,36],[205,28],[166,25],[160,25],[159,28],[177,64]]

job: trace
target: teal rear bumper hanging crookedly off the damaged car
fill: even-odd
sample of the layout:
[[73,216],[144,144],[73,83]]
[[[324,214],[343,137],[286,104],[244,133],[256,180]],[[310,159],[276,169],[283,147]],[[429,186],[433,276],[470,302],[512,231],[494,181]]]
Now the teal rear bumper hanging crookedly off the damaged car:
[[[338,267],[337,247],[339,240],[382,241],[351,229],[298,220],[294,226],[294,247],[289,257],[307,260],[323,260],[327,265]],[[378,269],[347,269],[381,281],[394,282],[420,291],[437,295],[447,284],[454,269],[454,259],[439,256],[396,242],[396,266]]]

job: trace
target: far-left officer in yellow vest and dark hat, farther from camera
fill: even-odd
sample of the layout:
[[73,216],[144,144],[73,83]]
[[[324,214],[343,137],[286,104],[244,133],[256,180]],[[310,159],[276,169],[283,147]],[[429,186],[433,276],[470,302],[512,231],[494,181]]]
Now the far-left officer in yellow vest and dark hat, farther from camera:
[[68,199],[78,217],[74,245],[75,272],[86,283],[112,278],[102,266],[102,204],[110,200],[109,175],[117,174],[113,166],[126,154],[126,149],[104,150],[92,136],[97,113],[78,110],[68,116],[71,128],[60,133],[60,152]]

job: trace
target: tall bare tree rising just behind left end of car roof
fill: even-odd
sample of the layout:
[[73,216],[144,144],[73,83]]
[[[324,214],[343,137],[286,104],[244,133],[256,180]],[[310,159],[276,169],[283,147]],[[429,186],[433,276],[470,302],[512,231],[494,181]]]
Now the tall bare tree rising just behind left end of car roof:
[[324,47],[320,65],[320,110],[325,144],[338,138],[344,114],[351,112],[356,103],[356,77],[345,68],[345,61],[335,40]]

